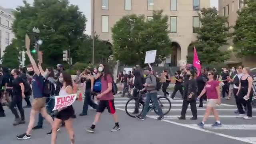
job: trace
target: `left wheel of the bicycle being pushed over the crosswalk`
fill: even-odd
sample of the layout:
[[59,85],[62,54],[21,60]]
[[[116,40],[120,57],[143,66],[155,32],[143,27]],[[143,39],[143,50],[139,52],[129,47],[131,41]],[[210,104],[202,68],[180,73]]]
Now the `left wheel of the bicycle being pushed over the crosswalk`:
[[125,112],[128,116],[135,118],[135,116],[138,116],[142,113],[142,110],[144,108],[144,104],[139,104],[138,113],[134,114],[134,108],[135,108],[135,101],[138,98],[130,98],[126,104],[125,104]]

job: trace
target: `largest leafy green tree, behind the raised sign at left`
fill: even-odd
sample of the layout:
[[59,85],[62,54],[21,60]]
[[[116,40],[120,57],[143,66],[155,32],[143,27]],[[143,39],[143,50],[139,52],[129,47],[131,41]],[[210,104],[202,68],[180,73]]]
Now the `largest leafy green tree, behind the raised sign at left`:
[[12,26],[19,47],[24,46],[25,34],[31,43],[35,42],[32,28],[36,27],[43,40],[40,51],[44,52],[44,63],[56,66],[62,62],[62,51],[69,48],[71,56],[76,57],[75,50],[87,21],[78,6],[70,5],[68,0],[34,0],[33,5],[23,2],[25,6],[19,6],[14,12],[16,20]]

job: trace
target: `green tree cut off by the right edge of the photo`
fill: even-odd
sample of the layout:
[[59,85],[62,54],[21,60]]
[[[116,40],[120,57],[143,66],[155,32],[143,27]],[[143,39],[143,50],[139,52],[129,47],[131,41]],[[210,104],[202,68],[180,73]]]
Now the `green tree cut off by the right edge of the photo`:
[[238,56],[256,56],[256,0],[246,2],[247,6],[237,11],[234,26],[234,47]]

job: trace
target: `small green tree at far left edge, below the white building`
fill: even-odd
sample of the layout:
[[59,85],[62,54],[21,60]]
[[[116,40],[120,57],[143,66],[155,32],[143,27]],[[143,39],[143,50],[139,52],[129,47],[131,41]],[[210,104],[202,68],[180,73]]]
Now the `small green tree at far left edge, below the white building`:
[[6,68],[18,68],[20,65],[19,60],[20,53],[16,46],[16,39],[12,40],[12,44],[6,47],[4,50],[4,56],[2,56],[2,64]]

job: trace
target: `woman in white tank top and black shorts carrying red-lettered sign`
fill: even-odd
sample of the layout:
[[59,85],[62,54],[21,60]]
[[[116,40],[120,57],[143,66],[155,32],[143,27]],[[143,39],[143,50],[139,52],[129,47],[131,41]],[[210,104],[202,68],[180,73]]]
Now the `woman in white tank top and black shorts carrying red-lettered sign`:
[[[60,89],[59,96],[68,96],[70,94],[73,94],[73,82],[71,75],[67,72],[62,72],[60,73],[59,80],[63,84],[62,88]],[[59,126],[62,123],[62,121],[65,122],[65,127],[70,136],[71,144],[74,144],[75,134],[72,122],[73,115],[74,108],[72,105],[58,110],[58,114],[55,116],[54,123],[52,125],[52,144],[56,144],[57,130],[59,129]]]

